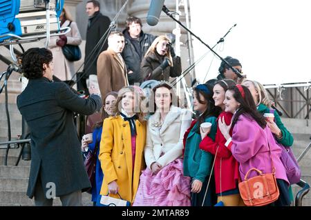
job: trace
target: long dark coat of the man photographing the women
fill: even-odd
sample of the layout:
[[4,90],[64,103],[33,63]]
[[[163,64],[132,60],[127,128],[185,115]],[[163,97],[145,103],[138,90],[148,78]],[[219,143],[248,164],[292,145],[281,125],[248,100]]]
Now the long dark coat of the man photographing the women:
[[17,107],[30,128],[31,166],[27,190],[30,199],[38,178],[44,194],[49,190],[46,183],[55,183],[57,197],[91,187],[73,112],[93,114],[101,106],[99,96],[82,99],[65,83],[52,83],[45,77],[29,80],[17,97]]

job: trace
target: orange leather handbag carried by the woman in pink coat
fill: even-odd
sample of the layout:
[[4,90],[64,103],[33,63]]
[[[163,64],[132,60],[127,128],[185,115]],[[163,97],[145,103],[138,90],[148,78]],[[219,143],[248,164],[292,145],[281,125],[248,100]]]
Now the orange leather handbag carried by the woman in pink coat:
[[[268,144],[270,150],[270,146]],[[264,174],[261,170],[251,168],[247,171],[244,181],[238,183],[241,198],[246,206],[265,206],[276,201],[279,198],[280,192],[276,183],[275,168],[271,158],[272,173]],[[258,176],[247,179],[249,172],[255,170]]]

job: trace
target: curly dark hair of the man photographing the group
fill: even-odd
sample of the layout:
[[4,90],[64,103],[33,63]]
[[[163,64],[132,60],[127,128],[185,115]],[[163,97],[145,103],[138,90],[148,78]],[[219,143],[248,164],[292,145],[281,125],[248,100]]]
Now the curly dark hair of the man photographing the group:
[[46,48],[30,48],[21,57],[21,70],[27,79],[37,79],[43,76],[43,64],[53,61],[53,54]]

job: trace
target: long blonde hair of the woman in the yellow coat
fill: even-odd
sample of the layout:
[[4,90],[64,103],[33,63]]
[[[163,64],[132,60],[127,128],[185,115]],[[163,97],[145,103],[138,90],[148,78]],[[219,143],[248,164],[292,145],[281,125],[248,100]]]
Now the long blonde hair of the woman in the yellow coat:
[[147,99],[144,95],[144,92],[142,89],[140,89],[138,86],[124,86],[118,93],[117,93],[117,101],[115,101],[115,106],[113,108],[113,114],[115,116],[120,114],[120,110],[122,109],[121,101],[123,98],[123,95],[126,92],[133,92],[134,94],[134,113],[138,115],[138,120],[140,122],[145,121],[145,116],[147,114]]

